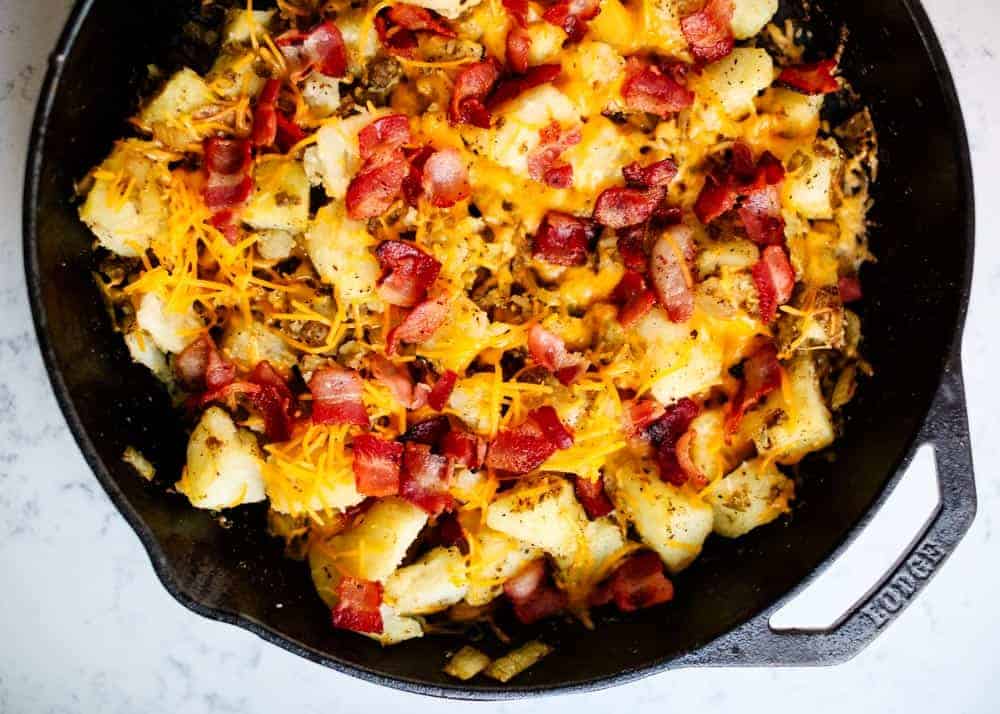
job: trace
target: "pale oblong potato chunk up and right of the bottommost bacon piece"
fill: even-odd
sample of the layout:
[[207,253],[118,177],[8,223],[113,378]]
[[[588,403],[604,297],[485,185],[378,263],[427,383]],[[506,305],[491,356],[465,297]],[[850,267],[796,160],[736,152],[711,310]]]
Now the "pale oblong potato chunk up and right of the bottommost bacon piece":
[[458,548],[434,548],[390,575],[384,597],[401,615],[428,615],[461,602],[468,580],[465,556]]

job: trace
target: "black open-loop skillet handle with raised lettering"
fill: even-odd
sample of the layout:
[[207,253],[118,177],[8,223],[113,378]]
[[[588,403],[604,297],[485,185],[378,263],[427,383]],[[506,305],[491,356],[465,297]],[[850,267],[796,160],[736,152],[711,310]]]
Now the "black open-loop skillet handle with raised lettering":
[[[774,630],[769,621],[782,604],[777,603],[674,665],[836,664],[858,654],[878,637],[951,555],[976,515],[969,423],[957,354],[945,370],[918,443],[934,445],[940,504],[909,550],[833,627]],[[876,507],[888,497],[908,465],[896,472]]]

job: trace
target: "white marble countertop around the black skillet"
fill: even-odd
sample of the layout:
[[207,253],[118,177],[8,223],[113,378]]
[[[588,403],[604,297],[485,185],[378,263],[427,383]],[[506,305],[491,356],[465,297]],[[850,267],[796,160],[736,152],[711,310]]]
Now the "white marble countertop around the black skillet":
[[[35,343],[21,262],[21,183],[46,57],[70,0],[0,0],[0,712],[675,711],[995,712],[1000,569],[1000,9],[926,0],[951,63],[978,197],[965,333],[980,510],[917,601],[867,650],[821,669],[670,672],[621,688],[530,703],[444,703],[326,670],[175,602],[73,442]],[[990,117],[994,117],[991,119]],[[942,236],[942,248],[947,238]],[[990,317],[993,315],[994,317]],[[787,612],[822,625],[860,594],[933,504],[918,459],[863,541]],[[990,555],[993,552],[994,555]]]

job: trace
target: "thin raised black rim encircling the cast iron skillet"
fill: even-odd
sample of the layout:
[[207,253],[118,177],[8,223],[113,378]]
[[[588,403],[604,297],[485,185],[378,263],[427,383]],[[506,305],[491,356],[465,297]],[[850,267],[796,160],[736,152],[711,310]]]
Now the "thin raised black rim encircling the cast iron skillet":
[[[963,265],[960,296],[958,309],[955,314],[954,326],[952,328],[951,339],[947,352],[939,367],[939,386],[944,379],[947,365],[954,363],[961,368],[961,340],[965,328],[968,305],[971,297],[972,274],[975,254],[975,185],[973,182],[971,152],[968,142],[968,135],[965,120],[962,113],[961,103],[948,66],[944,51],[937,39],[937,35],[919,0],[899,0],[902,9],[909,15],[909,19],[916,28],[923,44],[924,51],[930,60],[932,70],[937,79],[938,86],[942,93],[945,104],[946,118],[952,129],[952,143],[956,149],[957,169],[961,181],[960,192],[964,199],[962,206],[964,220],[962,225],[962,237],[966,248],[965,264]],[[153,566],[153,571],[170,595],[181,603],[184,607],[202,617],[225,622],[239,628],[252,632],[264,641],[277,645],[282,649],[296,654],[316,664],[329,667],[338,672],[351,675],[371,684],[381,685],[405,692],[423,694],[432,697],[459,700],[479,700],[479,701],[502,701],[522,699],[528,696],[539,696],[548,694],[572,694],[606,689],[620,684],[626,684],[653,674],[658,674],[669,669],[695,666],[691,662],[678,662],[676,659],[665,659],[645,667],[636,667],[623,670],[612,675],[586,680],[570,680],[560,684],[536,685],[536,686],[468,686],[462,684],[455,685],[433,685],[426,682],[414,680],[408,677],[389,676],[377,671],[374,668],[358,666],[334,656],[319,652],[309,647],[305,647],[298,642],[289,639],[280,632],[264,625],[244,614],[208,607],[200,601],[190,597],[179,586],[164,552],[162,551],[156,535],[149,529],[141,516],[128,503],[124,493],[118,488],[117,483],[105,466],[103,460],[97,453],[89,434],[83,426],[82,421],[76,411],[73,398],[63,379],[60,371],[55,349],[48,335],[48,316],[45,312],[41,293],[41,271],[38,264],[38,254],[35,250],[37,245],[37,204],[38,188],[42,173],[42,156],[45,145],[45,138],[48,130],[48,123],[52,113],[56,94],[62,79],[63,68],[66,64],[67,56],[86,21],[92,6],[97,0],[76,0],[69,18],[56,43],[56,49],[51,55],[48,69],[42,88],[39,93],[38,104],[32,120],[31,138],[28,145],[26,174],[24,183],[24,195],[22,205],[23,220],[23,251],[25,278],[27,283],[28,299],[31,308],[32,320],[35,326],[35,334],[39,348],[42,353],[46,372],[52,384],[56,401],[66,419],[84,459],[90,466],[95,477],[100,482],[104,491],[108,494],[115,508],[125,517],[132,530],[135,531],[140,543],[149,556]],[[964,406],[964,404],[963,404]],[[838,543],[828,553],[828,555],[801,581],[792,586],[788,591],[775,598],[771,603],[752,611],[746,619],[737,624],[733,629],[737,629],[750,620],[757,617],[765,610],[774,611],[785,603],[789,602],[798,593],[804,590],[815,578],[822,574],[843,552],[850,547],[858,535],[865,529],[868,523],[875,517],[879,509],[884,504],[889,493],[896,485],[898,477],[903,469],[910,463],[913,455],[920,445],[920,431],[923,423],[931,416],[930,402],[925,409],[924,419],[914,430],[908,439],[903,456],[896,464],[894,470],[886,479],[879,493],[876,494],[872,505],[865,511],[851,527],[845,529]],[[729,632],[731,632],[730,630]],[[725,636],[721,633],[716,639]],[[712,641],[706,642],[703,646],[708,646]],[[703,664],[711,664],[703,663]]]

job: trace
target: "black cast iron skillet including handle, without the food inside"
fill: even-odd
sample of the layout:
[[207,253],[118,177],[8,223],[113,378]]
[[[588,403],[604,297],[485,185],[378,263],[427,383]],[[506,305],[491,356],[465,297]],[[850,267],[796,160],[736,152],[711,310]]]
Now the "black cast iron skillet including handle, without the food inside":
[[[39,102],[24,207],[31,303],[56,396],[97,478],[181,603],[368,681],[445,697],[511,698],[605,687],[692,665],[845,660],[878,635],[957,545],[976,510],[959,360],[973,200],[958,101],[914,0],[815,2],[817,51],[828,53],[840,28],[850,29],[843,73],[871,107],[880,134],[871,231],[879,262],[865,270],[861,307],[865,353],[876,376],[848,410],[835,459],[802,466],[791,517],[738,541],[711,539],[676,579],[670,605],[594,631],[549,623],[540,633],[517,633],[541,634],[556,651],[510,686],[461,684],[443,675],[445,653],[458,639],[432,636],[382,649],[332,629],[306,568],[283,558],[264,534],[262,508],[241,509],[222,527],[217,517],[164,493],[180,471],[183,427],[162,389],[130,362],[109,328],[89,273],[92,239],[71,200],[73,181],[126,130],[146,65],[203,61],[197,43],[177,41],[182,27],[191,28],[188,4],[199,3],[77,4]],[[829,631],[771,630],[771,613],[850,543],[923,443],[936,450],[940,507],[885,580]],[[156,464],[162,474],[156,483],[121,462],[127,445]],[[482,646],[499,650],[489,641]]]

